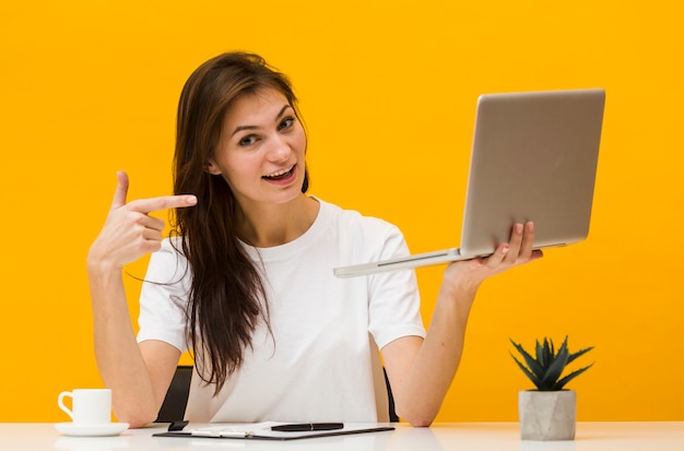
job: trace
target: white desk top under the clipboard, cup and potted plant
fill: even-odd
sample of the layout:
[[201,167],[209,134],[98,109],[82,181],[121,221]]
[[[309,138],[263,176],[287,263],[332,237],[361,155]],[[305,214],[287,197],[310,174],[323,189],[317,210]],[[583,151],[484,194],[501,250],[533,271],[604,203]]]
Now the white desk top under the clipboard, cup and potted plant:
[[684,422],[579,423],[574,441],[521,441],[517,423],[396,425],[387,432],[292,441],[161,438],[165,427],[131,429],[118,437],[63,437],[52,424],[2,423],[0,449],[8,451],[673,451],[684,450]]

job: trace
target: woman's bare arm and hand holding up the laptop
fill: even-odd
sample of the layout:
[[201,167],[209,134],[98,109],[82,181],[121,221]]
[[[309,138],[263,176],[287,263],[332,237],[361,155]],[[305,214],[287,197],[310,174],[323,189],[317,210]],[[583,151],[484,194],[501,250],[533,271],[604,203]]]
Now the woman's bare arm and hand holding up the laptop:
[[451,263],[445,271],[425,340],[405,336],[382,347],[397,414],[413,426],[429,426],[458,369],[465,325],[484,280],[542,257],[532,250],[532,223],[516,224],[509,244],[486,259]]

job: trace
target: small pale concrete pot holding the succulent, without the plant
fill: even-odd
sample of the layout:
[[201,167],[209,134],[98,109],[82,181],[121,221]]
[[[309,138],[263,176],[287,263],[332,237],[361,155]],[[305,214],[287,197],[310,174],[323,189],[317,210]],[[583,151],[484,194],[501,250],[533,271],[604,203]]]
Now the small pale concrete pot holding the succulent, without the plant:
[[577,393],[573,390],[521,391],[518,416],[522,440],[574,440]]

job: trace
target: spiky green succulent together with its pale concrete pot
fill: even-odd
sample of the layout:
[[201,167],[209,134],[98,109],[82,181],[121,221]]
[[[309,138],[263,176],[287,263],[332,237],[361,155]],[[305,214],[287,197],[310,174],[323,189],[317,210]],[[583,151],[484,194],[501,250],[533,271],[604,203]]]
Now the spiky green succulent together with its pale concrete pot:
[[523,365],[510,353],[518,367],[532,381],[535,390],[523,390],[518,394],[518,416],[522,440],[573,440],[577,418],[577,394],[565,385],[588,370],[593,364],[562,376],[565,367],[577,357],[593,349],[587,347],[570,353],[567,336],[557,353],[551,339],[536,341],[535,356],[524,351],[512,340],[512,345],[523,357]]

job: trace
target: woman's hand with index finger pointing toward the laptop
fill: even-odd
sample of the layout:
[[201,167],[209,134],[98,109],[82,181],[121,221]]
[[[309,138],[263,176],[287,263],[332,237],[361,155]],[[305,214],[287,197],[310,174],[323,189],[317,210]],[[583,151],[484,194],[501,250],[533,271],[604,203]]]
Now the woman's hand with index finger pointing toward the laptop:
[[120,270],[145,253],[160,250],[165,223],[149,213],[197,204],[197,198],[192,194],[164,195],[126,203],[128,175],[118,171],[117,177],[107,221],[87,256],[89,268]]

